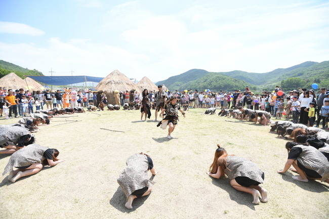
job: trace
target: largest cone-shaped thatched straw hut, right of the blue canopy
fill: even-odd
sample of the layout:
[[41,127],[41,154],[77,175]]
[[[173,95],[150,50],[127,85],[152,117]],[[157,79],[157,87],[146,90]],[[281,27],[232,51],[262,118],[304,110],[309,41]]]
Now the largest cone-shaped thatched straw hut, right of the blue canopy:
[[122,74],[118,70],[112,71],[109,75],[107,75],[103,80],[101,80],[97,86],[96,90],[103,90],[103,93],[107,97],[107,101],[109,104],[114,105],[114,91],[130,91],[136,90],[137,92],[141,92],[136,83],[131,81],[126,75]]

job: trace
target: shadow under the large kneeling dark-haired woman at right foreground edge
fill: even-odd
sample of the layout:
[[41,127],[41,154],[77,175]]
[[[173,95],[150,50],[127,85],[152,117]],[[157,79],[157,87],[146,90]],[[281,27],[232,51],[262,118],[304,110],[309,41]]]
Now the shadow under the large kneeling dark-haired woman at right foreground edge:
[[[308,183],[300,182],[298,180],[294,180],[292,177],[294,176],[293,173],[291,172],[285,172],[281,173],[282,180],[294,183],[296,186],[310,191],[310,192],[316,192],[316,193],[321,193],[321,192],[328,192],[329,186],[324,185],[323,183],[320,183],[316,180],[309,180]],[[296,173],[296,176],[298,176],[298,173]]]

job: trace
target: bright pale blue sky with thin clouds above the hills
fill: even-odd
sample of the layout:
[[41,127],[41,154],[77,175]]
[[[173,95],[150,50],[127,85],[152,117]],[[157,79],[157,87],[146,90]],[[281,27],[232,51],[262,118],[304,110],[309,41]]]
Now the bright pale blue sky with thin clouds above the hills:
[[0,60],[45,75],[119,70],[156,82],[328,56],[327,1],[0,1]]

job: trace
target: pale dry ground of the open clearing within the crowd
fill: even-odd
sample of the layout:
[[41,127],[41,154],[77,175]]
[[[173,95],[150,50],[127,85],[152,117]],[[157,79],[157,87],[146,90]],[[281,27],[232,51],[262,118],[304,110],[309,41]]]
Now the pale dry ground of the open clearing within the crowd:
[[[65,162],[46,166],[16,183],[0,183],[0,218],[328,218],[329,184],[292,179],[283,169],[286,140],[269,133],[269,126],[237,122],[190,109],[167,138],[167,130],[140,112],[102,111],[56,117],[40,126],[36,143],[56,148]],[[100,115],[98,115],[100,114]],[[65,123],[60,120],[81,120]],[[18,120],[18,119],[17,119]],[[228,122],[234,121],[234,122]],[[17,122],[1,119],[0,124]],[[62,125],[57,125],[62,124]],[[55,126],[56,125],[56,126]],[[119,130],[111,132],[100,128]],[[252,204],[250,194],[234,190],[228,178],[213,179],[209,169],[217,144],[229,154],[252,160],[265,172],[262,187],[269,201]],[[126,196],[116,182],[134,153],[151,156],[159,173],[149,196],[125,208]],[[5,168],[10,156],[0,155]],[[149,173],[151,178],[151,173]]]

